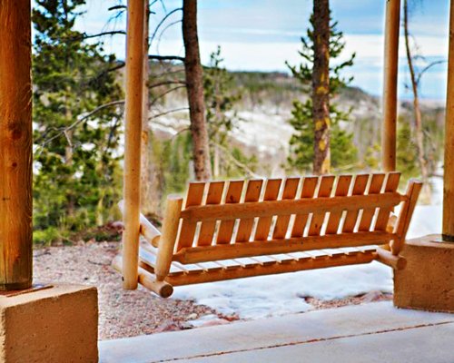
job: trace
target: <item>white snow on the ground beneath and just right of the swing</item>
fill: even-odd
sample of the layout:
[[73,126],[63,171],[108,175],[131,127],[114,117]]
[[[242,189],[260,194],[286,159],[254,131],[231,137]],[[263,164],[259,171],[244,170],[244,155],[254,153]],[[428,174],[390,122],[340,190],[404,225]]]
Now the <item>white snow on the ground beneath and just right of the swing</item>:
[[[440,203],[418,206],[408,238],[440,233],[441,207]],[[225,315],[261,319],[311,309],[304,297],[343,299],[371,290],[392,292],[392,270],[375,261],[366,265],[178,287],[173,297],[193,299]]]

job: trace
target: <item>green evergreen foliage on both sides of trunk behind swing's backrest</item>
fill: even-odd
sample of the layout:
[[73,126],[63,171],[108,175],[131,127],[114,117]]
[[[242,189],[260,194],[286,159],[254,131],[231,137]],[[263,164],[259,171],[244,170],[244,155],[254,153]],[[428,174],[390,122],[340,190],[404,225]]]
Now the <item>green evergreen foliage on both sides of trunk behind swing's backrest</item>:
[[[331,19],[331,17],[330,17]],[[308,99],[302,103],[299,100],[293,102],[291,111],[291,119],[289,122],[295,129],[295,133],[291,136],[290,152],[288,158],[290,169],[299,172],[311,172],[312,163],[314,160],[314,134],[315,125],[313,122],[313,107],[311,94],[311,81],[314,67],[314,18],[311,15],[311,26],[307,30],[306,36],[301,37],[302,49],[298,52],[303,62],[299,66],[291,66],[286,63],[291,74],[301,81],[301,88],[304,93],[308,93]],[[338,58],[343,49],[345,42],[343,41],[342,32],[337,30],[337,22],[330,24],[330,58]],[[355,54],[342,62],[341,64],[330,64],[330,83],[329,93],[332,100],[342,88],[346,87],[352,80],[341,76],[341,71],[353,64]],[[335,169],[350,169],[357,161],[357,150],[353,144],[353,134],[345,131],[341,123],[350,121],[350,112],[345,113],[337,107],[335,103],[330,103],[330,123],[331,123],[331,166]]]

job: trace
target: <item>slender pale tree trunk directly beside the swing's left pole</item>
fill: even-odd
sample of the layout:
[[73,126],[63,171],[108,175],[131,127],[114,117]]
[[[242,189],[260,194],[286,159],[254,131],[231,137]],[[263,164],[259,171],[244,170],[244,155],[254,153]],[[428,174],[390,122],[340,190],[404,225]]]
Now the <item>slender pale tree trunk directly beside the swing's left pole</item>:
[[145,22],[144,22],[144,49],[143,49],[143,117],[142,117],[142,152],[141,152],[141,210],[144,215],[158,214],[159,205],[162,197],[159,168],[153,158],[152,129],[149,124],[150,113],[150,87],[149,87],[149,62],[148,59],[148,25],[150,20],[150,5],[148,0],[144,1],[145,5]]

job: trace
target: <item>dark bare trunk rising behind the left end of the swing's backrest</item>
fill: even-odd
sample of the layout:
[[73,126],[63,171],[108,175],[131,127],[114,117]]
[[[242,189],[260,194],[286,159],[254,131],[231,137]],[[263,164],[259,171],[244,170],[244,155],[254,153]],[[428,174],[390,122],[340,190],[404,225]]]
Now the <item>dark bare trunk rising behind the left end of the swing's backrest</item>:
[[191,120],[195,179],[209,180],[212,176],[208,131],[203,100],[202,64],[197,35],[197,0],[183,0],[183,41],[186,52],[184,70]]

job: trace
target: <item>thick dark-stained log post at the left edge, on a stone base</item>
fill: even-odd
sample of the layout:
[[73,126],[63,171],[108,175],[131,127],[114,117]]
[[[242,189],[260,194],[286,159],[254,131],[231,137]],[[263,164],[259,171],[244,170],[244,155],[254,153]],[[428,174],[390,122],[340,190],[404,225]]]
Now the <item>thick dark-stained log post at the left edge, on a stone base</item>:
[[32,285],[30,0],[0,1],[0,289]]

